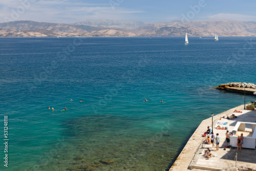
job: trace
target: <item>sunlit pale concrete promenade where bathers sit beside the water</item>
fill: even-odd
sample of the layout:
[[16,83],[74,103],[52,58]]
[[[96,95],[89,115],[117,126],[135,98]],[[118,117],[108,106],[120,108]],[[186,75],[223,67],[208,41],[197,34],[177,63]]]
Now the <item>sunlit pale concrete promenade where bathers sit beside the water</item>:
[[[238,121],[243,122],[255,122],[256,111],[243,110],[244,105],[237,106],[236,108],[225,111],[221,114],[214,116],[214,127],[217,122],[227,122],[229,132],[232,132],[234,126]],[[242,111],[242,113],[234,113],[234,110]],[[221,119],[221,117],[227,117],[227,115],[235,114],[238,116],[236,119]],[[212,147],[211,144],[204,144],[202,141],[204,137],[202,134],[207,130],[207,126],[211,125],[211,117],[205,119],[198,126],[194,134],[189,138],[187,144],[183,148],[182,152],[176,159],[175,163],[169,170],[221,170],[227,167],[236,166],[234,157],[237,154],[237,148],[225,148],[226,145],[226,130],[213,129],[214,134],[219,133],[220,136],[220,149],[216,152],[216,146]],[[216,144],[215,144],[216,145]],[[205,149],[209,147],[212,155],[215,157],[206,159],[203,157]],[[242,152],[238,153],[237,166],[245,166],[248,168],[256,169],[256,149],[242,149]]]

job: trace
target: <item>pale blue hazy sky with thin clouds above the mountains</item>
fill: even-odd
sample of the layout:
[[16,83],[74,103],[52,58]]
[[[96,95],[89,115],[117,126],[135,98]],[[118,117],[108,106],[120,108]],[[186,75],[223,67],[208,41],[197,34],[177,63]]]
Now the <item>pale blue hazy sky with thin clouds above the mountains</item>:
[[86,19],[145,23],[206,19],[256,22],[255,7],[255,0],[1,0],[0,23],[11,20],[75,23]]

